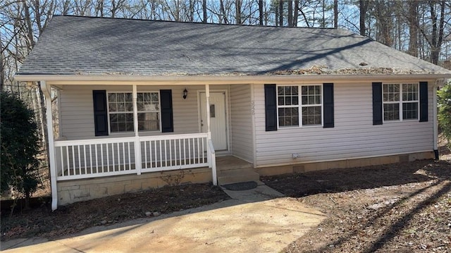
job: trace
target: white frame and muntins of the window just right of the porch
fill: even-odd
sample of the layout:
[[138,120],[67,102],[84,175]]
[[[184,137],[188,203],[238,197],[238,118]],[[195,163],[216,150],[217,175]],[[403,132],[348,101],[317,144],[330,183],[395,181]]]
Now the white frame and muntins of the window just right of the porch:
[[[287,86],[297,86],[297,105],[290,105],[290,106],[279,106],[278,101],[278,87],[287,87]],[[321,87],[321,104],[302,104],[302,87],[303,86],[319,86]],[[320,83],[306,83],[302,85],[289,85],[289,84],[283,84],[283,85],[276,85],[276,112],[277,112],[277,129],[292,129],[292,128],[317,128],[317,127],[323,127],[324,124],[324,92],[323,92],[323,84]],[[315,125],[302,125],[302,108],[304,107],[316,107],[321,106],[321,124],[315,124]],[[290,126],[280,126],[279,125],[279,108],[293,108],[297,107],[297,111],[299,113],[299,125],[290,125]]]

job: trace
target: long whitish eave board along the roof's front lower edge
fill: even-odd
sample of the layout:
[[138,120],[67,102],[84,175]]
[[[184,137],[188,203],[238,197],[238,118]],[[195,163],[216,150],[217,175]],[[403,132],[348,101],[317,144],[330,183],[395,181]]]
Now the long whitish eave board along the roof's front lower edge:
[[451,78],[451,74],[381,74],[381,75],[16,75],[20,82],[55,81],[55,82],[170,82],[171,84],[243,84],[268,82],[337,82],[362,80],[421,80]]

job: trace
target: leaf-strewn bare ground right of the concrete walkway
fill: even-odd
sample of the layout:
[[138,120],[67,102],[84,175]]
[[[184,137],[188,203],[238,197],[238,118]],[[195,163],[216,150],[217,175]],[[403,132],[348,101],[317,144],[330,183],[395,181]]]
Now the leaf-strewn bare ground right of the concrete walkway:
[[283,252],[451,252],[450,160],[263,180],[329,216]]

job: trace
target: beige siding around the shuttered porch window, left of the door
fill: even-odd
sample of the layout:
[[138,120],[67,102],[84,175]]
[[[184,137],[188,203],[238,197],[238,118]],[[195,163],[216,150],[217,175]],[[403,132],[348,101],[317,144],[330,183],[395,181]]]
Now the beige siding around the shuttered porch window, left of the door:
[[[183,90],[185,90],[185,88],[188,90],[187,99],[183,99],[182,97]],[[92,90],[106,90],[106,92],[132,92],[132,86],[64,85],[60,94],[60,116],[62,130],[61,135],[66,140],[96,138],[94,135]],[[172,90],[174,132],[140,132],[140,135],[184,134],[199,132],[197,90],[205,90],[204,85],[187,87],[140,85],[137,87],[138,92],[152,92],[159,90]],[[112,134],[104,137],[123,136],[132,136],[132,134]]]

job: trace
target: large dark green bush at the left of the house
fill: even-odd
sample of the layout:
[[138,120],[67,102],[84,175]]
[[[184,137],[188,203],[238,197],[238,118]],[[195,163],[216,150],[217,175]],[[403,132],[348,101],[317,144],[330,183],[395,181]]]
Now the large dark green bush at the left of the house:
[[0,190],[13,190],[28,199],[37,190],[39,136],[34,113],[15,95],[0,93]]

